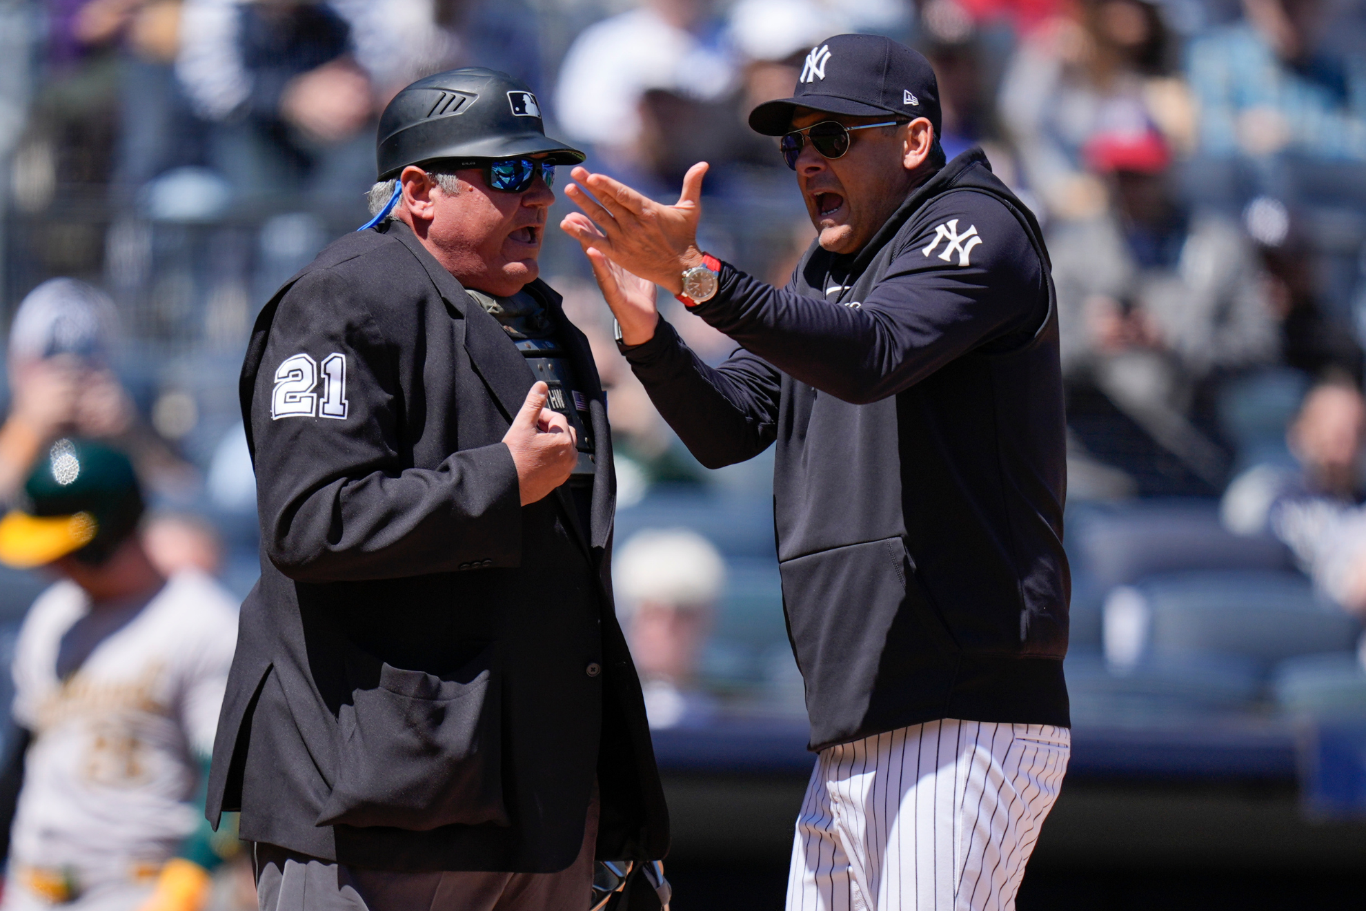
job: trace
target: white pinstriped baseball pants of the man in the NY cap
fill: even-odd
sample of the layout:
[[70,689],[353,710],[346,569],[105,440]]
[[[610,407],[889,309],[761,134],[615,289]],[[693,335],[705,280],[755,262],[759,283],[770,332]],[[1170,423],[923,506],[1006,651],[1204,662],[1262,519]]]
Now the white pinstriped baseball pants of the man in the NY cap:
[[821,751],[787,911],[1014,911],[1071,732],[929,721]]

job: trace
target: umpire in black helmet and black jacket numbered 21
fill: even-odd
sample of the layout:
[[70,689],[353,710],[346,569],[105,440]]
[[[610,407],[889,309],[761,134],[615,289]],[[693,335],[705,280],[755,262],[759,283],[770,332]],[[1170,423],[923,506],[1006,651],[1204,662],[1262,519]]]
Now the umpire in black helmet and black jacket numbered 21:
[[240,809],[264,911],[587,908],[594,856],[646,869],[668,821],[602,391],[537,279],[583,153],[469,68],[400,92],[377,156],[376,219],[276,292],[242,367],[261,580],[208,814]]

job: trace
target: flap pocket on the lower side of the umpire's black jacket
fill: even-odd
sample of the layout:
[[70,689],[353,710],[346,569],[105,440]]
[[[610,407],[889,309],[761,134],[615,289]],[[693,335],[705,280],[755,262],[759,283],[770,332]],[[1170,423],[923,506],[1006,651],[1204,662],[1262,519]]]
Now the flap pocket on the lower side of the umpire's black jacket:
[[376,686],[337,718],[344,742],[317,825],[510,825],[494,646],[448,677],[376,665]]

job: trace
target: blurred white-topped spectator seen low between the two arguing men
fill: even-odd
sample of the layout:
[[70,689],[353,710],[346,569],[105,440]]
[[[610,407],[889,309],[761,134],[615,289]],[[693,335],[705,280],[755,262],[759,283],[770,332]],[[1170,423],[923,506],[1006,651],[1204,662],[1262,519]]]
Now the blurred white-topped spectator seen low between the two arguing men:
[[714,705],[697,672],[725,586],[721,555],[695,531],[647,529],[622,548],[615,576],[650,727],[705,720]]

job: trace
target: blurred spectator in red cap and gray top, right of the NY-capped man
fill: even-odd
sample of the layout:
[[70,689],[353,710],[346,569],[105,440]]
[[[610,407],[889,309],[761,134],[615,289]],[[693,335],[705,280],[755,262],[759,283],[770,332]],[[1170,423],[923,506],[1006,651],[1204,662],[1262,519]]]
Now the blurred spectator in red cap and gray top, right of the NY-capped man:
[[[1087,438],[1079,391],[1091,389],[1212,490],[1227,455],[1195,421],[1197,400],[1228,376],[1272,363],[1277,326],[1255,251],[1240,225],[1186,212],[1171,179],[1171,152],[1153,128],[1098,132],[1085,149],[1108,180],[1113,208],[1061,223],[1049,236],[1057,284],[1070,423],[1102,460],[1119,451],[1119,425]],[[1127,463],[1142,473],[1142,448]],[[1139,482],[1146,493],[1176,493]]]

